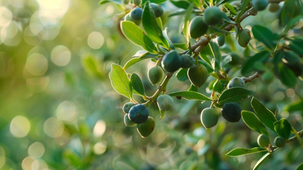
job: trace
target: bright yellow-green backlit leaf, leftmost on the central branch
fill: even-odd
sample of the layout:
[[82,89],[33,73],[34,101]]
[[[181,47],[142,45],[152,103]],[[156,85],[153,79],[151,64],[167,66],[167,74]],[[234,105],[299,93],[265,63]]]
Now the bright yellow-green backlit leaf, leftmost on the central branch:
[[112,87],[121,95],[132,99],[132,84],[130,83],[126,72],[118,64],[112,64],[112,70],[109,72],[109,79]]

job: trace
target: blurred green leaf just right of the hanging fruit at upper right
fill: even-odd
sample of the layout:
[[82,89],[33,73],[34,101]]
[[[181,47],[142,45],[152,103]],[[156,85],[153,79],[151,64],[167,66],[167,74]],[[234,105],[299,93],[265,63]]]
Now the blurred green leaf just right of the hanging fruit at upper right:
[[274,34],[270,29],[261,26],[255,25],[251,28],[252,34],[254,34],[255,39],[265,44],[271,50],[274,50],[279,39],[278,34]]

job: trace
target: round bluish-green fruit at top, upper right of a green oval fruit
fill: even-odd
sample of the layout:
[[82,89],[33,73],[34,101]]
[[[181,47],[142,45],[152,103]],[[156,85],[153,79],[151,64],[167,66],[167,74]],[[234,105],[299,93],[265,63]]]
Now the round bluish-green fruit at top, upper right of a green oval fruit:
[[208,25],[220,24],[225,13],[218,7],[208,7],[204,11],[204,21]]

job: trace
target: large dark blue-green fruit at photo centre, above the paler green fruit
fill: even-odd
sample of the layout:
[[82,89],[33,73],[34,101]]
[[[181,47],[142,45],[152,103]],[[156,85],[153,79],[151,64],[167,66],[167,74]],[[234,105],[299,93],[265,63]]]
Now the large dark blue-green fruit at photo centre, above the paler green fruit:
[[181,67],[182,58],[176,50],[172,50],[164,55],[161,64],[167,72],[175,72]]

